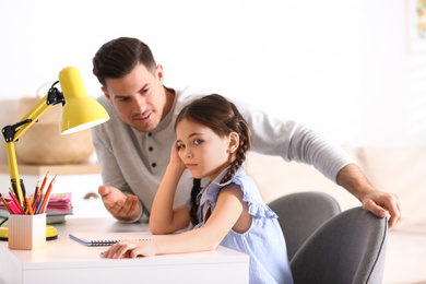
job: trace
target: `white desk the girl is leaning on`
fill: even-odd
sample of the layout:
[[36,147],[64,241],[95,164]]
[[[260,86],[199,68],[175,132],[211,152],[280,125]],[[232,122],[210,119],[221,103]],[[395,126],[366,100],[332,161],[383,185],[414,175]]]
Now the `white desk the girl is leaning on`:
[[113,218],[70,218],[55,225],[58,239],[45,248],[9,250],[0,241],[0,283],[248,283],[249,257],[220,247],[214,251],[137,259],[103,259],[105,247],[85,247],[75,232],[147,230],[147,224]]

